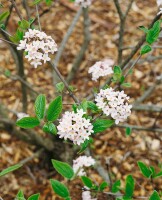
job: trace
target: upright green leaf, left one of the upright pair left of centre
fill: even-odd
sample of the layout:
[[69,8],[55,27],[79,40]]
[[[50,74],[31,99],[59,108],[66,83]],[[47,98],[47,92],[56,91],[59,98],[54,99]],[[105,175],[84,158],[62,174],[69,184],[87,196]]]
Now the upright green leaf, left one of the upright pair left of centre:
[[43,94],[40,94],[35,100],[35,114],[38,119],[44,118],[45,107],[46,107],[46,97]]

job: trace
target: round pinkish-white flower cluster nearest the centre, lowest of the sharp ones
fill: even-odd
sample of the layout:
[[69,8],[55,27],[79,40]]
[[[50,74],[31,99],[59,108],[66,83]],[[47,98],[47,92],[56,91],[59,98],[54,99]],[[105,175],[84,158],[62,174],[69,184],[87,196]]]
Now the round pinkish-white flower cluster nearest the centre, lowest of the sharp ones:
[[78,109],[77,113],[74,111],[65,112],[57,126],[59,137],[65,140],[69,139],[78,145],[89,139],[94,131],[90,120],[83,117],[84,114],[83,109]]

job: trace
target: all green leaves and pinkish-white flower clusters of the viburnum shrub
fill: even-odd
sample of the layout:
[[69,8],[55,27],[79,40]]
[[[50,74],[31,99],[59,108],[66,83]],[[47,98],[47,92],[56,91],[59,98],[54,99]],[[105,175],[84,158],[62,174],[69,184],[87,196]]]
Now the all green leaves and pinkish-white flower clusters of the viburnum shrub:
[[[35,0],[34,5],[37,6],[40,0]],[[48,5],[51,1],[47,1]],[[88,9],[93,3],[91,0],[75,0],[75,5],[81,6],[82,9]],[[157,1],[161,5],[161,1]],[[13,4],[14,5],[14,4]],[[17,8],[17,7],[16,7]],[[160,15],[158,13],[158,15]],[[1,21],[8,17],[9,13],[4,12],[0,15]],[[39,16],[37,16],[39,19]],[[21,18],[20,18],[21,19]],[[146,33],[145,43],[140,50],[139,57],[147,54],[152,50],[152,45],[159,37],[161,28],[161,20],[153,23],[152,27],[147,29],[141,26],[140,29]],[[3,23],[1,29],[6,33]],[[51,36],[45,32],[37,30],[33,26],[33,20],[21,19],[18,24],[18,29],[13,36],[9,36],[12,43],[17,45],[17,50],[24,51],[25,58],[28,59],[31,65],[42,67],[46,62],[50,62],[51,54],[54,54],[59,48]],[[78,100],[74,95],[74,90],[63,79],[58,69],[54,67],[57,75],[62,82],[57,83],[56,88],[58,96],[56,96],[47,106],[46,96],[39,94],[35,100],[34,112],[35,116],[29,116],[27,113],[18,113],[16,125],[23,129],[35,128],[39,125],[45,133],[56,135],[64,144],[64,141],[79,147],[78,157],[73,160],[73,166],[68,163],[52,159],[51,165],[55,170],[65,178],[68,185],[70,181],[80,178],[82,187],[83,200],[97,200],[98,193],[110,195],[116,200],[131,200],[137,199],[134,195],[135,179],[132,175],[126,176],[125,183],[122,184],[121,180],[116,180],[112,185],[104,181],[101,184],[94,182],[88,177],[86,169],[88,167],[95,167],[97,159],[92,156],[84,155],[93,144],[93,138],[96,134],[103,133],[110,127],[115,126],[127,120],[131,115],[132,105],[129,102],[130,97],[121,90],[121,87],[130,87],[130,83],[125,82],[128,73],[120,66],[113,66],[112,59],[105,59],[96,62],[88,70],[92,80],[97,82],[103,77],[109,77],[110,83],[102,88],[95,89],[94,99]],[[134,67],[134,65],[133,65]],[[113,83],[113,84],[112,84]],[[111,86],[111,84],[113,86]],[[115,86],[114,86],[115,85]],[[69,94],[75,100],[69,110],[63,109],[63,91],[68,90]],[[64,111],[65,110],[65,111]],[[131,134],[129,126],[126,129],[126,135]],[[83,154],[83,155],[80,155]],[[147,166],[144,162],[138,161],[137,165],[142,175],[152,181],[155,178],[162,176],[162,171],[155,171],[153,166]],[[22,164],[11,166],[0,173],[0,177],[7,173],[17,170],[22,167]],[[65,181],[64,181],[65,182]],[[65,200],[70,200],[71,195],[66,184],[58,180],[50,180],[53,191]],[[109,191],[109,192],[107,192]],[[34,194],[28,200],[38,200],[40,194]],[[149,200],[160,200],[161,194],[156,190],[152,192]],[[140,197],[139,197],[140,198]],[[142,197],[141,197],[142,198]],[[16,200],[25,200],[26,197],[23,191],[19,191]]]

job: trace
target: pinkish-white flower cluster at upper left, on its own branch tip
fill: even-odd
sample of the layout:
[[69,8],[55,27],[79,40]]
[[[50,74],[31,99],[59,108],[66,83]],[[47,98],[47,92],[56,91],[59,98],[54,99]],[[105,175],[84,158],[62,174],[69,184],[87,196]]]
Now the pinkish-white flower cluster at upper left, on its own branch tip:
[[57,44],[51,36],[47,36],[44,32],[29,29],[24,39],[20,40],[17,49],[25,50],[27,52],[25,58],[32,61],[31,65],[36,68],[42,65],[42,61],[44,63],[50,61],[49,53],[53,54],[57,51]]

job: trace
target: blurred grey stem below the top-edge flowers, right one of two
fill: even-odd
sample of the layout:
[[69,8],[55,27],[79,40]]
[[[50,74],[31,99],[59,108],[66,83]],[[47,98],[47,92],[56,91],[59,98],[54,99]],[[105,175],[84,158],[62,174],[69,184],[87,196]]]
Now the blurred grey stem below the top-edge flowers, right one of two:
[[84,42],[82,44],[80,52],[78,53],[77,57],[74,60],[72,69],[67,77],[68,83],[70,83],[73,80],[76,72],[78,71],[90,42],[90,31],[89,31],[90,19],[88,16],[88,8],[83,8],[83,17],[84,17]]

